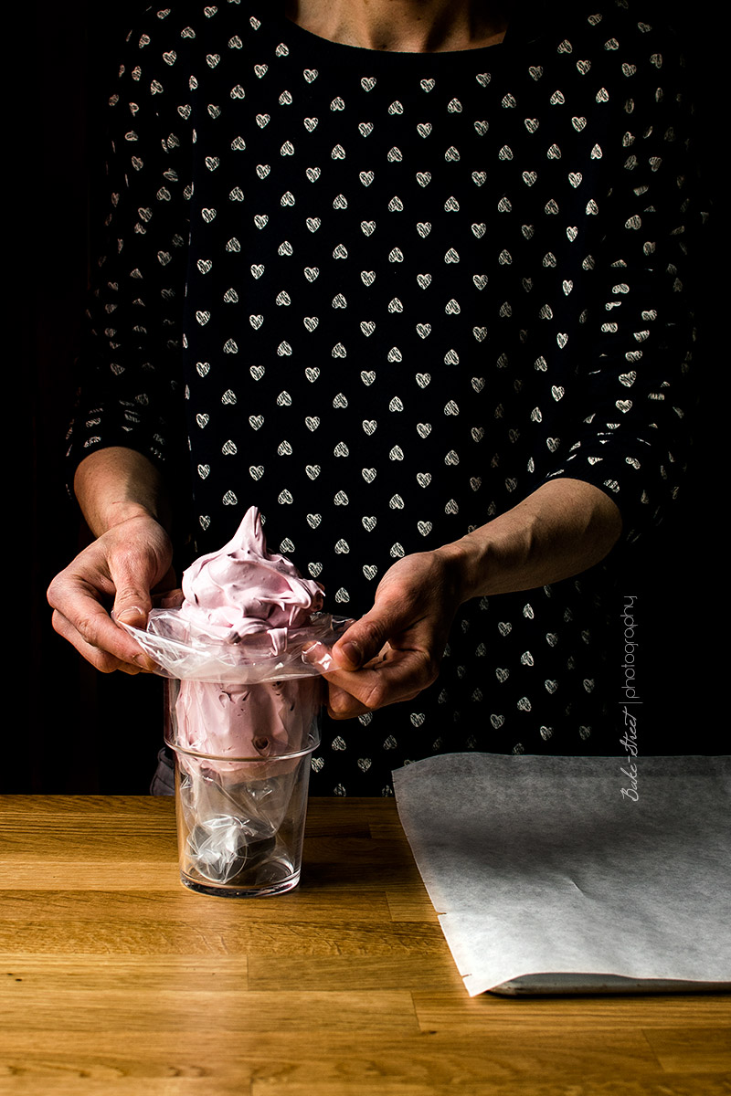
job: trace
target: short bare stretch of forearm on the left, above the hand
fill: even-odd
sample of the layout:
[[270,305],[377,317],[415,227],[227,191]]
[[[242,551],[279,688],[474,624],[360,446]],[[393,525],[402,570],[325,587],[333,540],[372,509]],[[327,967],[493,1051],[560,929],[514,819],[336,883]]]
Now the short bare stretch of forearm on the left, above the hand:
[[170,505],[156,466],[137,453],[113,446],[85,457],[77,468],[73,490],[94,536],[130,517],[153,517],[170,525]]

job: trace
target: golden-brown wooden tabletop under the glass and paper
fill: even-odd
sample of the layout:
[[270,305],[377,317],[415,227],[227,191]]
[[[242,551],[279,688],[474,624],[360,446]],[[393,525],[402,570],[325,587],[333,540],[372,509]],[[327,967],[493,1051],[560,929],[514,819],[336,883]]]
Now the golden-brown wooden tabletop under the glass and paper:
[[392,800],[312,800],[304,880],[206,898],[171,800],[0,804],[0,1093],[720,1096],[731,997],[469,998]]

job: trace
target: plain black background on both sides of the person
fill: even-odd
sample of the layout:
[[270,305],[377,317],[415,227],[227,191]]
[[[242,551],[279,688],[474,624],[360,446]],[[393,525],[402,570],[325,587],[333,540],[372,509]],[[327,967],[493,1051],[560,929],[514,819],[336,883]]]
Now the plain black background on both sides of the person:
[[[25,67],[14,89],[11,136],[5,135],[5,181],[12,190],[4,203],[4,265],[14,294],[5,286],[3,296],[7,327],[15,336],[5,367],[11,381],[5,423],[8,436],[20,438],[5,453],[5,573],[11,576],[5,620],[14,621],[15,633],[5,646],[7,709],[15,707],[15,715],[5,717],[0,789],[11,792],[144,794],[161,738],[160,680],[96,673],[54,633],[45,600],[53,575],[88,536],[64,483],[64,435],[94,250],[95,227],[90,226],[103,216],[90,195],[102,174],[104,104],[129,14],[141,5],[119,0],[112,7],[90,0],[30,5],[20,41],[32,48],[22,50]],[[719,284],[726,226],[715,170],[717,146],[727,139],[724,127],[716,128],[727,60],[712,11],[708,0],[694,3],[690,24],[679,3],[663,5],[692,64],[699,161],[716,222],[699,264],[701,403],[689,479],[660,535],[624,563],[621,591],[637,595],[642,644],[643,704],[635,711],[643,754],[728,753],[720,717],[728,608],[717,547],[724,536],[721,439],[729,429],[719,386],[728,362]],[[23,621],[20,637],[18,620]],[[617,649],[617,699],[621,628],[617,619],[616,635],[608,637]],[[20,659],[12,659],[15,652]],[[20,694],[16,706],[14,694]]]

